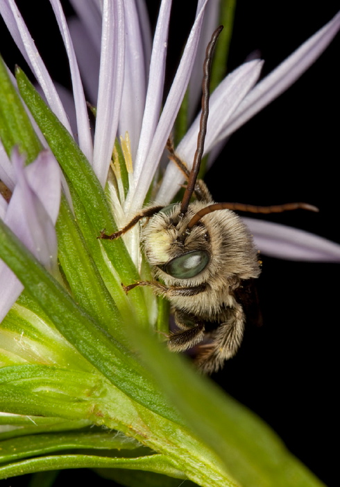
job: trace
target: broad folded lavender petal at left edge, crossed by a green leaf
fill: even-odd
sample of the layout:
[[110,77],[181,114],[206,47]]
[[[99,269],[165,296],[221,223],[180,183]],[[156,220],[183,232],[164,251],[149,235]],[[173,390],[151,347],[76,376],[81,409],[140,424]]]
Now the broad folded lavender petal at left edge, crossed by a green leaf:
[[[57,268],[54,224],[60,202],[58,163],[50,152],[42,152],[36,161],[24,168],[22,156],[14,150],[12,166],[17,184],[7,207],[1,197],[0,216],[40,262],[53,271]],[[0,321],[17,301],[22,289],[24,287],[15,274],[0,261]]]

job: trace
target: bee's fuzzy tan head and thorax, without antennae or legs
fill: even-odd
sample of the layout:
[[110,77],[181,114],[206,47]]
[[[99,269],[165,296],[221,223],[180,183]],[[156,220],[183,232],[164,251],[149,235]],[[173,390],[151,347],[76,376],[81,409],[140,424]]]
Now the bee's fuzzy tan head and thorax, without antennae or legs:
[[155,214],[142,230],[142,242],[155,276],[167,285],[201,285],[259,275],[257,253],[247,227],[226,209],[207,214],[187,230],[191,218],[211,202],[193,202],[185,215],[180,204]]

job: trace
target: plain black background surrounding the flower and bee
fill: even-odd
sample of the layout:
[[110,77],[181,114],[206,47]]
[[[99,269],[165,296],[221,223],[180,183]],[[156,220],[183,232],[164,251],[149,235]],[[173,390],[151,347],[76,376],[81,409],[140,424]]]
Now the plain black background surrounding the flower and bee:
[[[53,79],[69,86],[58,28],[49,2],[17,2]],[[71,8],[62,2],[68,14]],[[192,22],[189,6],[174,0],[169,38],[169,79]],[[183,10],[185,5],[186,10]],[[156,18],[158,1],[148,1]],[[270,72],[336,13],[335,1],[282,3],[239,0],[228,71],[255,49]],[[0,50],[12,69],[25,67],[0,26]],[[340,241],[338,226],[339,35],[287,93],[236,134],[205,178],[216,201],[271,205],[306,201],[320,209],[270,215],[268,221]],[[328,486],[335,486],[337,423],[335,368],[338,353],[339,264],[288,262],[262,257],[258,280],[264,325],[246,327],[237,356],[212,378],[260,415],[287,447]],[[65,472],[69,479],[70,472]],[[90,472],[76,479],[91,482]],[[27,476],[1,481],[24,485]],[[95,481],[95,479],[93,480]],[[101,481],[101,485],[105,485]],[[110,484],[112,485],[112,484]]]

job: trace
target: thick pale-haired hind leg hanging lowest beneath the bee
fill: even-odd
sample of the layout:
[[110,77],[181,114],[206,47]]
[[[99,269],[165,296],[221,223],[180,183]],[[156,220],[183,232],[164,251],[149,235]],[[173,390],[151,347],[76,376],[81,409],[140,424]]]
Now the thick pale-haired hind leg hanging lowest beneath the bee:
[[244,333],[244,311],[238,303],[228,309],[225,323],[221,323],[212,335],[212,343],[203,345],[196,357],[196,365],[204,374],[212,374],[223,367],[225,360],[235,356]]

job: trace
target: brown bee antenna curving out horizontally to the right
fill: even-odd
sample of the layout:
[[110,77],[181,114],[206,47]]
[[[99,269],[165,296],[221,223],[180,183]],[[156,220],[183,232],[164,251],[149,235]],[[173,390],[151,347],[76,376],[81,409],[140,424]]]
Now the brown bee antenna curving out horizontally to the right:
[[244,205],[243,203],[213,203],[207,207],[197,211],[187,225],[187,230],[190,230],[201,218],[208,213],[217,211],[219,209],[232,209],[236,211],[248,211],[248,213],[281,213],[282,211],[291,211],[292,209],[307,209],[309,211],[318,211],[318,208],[308,203],[286,203],[285,205],[273,205],[270,207],[257,207],[254,205]]

